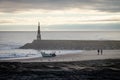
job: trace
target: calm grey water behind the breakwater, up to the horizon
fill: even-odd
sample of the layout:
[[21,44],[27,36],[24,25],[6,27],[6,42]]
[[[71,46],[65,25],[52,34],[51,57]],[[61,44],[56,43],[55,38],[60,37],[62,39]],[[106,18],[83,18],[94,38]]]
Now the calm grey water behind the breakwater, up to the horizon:
[[[0,49],[17,48],[36,39],[36,32],[0,32]],[[120,31],[46,31],[42,39],[53,40],[120,40]]]

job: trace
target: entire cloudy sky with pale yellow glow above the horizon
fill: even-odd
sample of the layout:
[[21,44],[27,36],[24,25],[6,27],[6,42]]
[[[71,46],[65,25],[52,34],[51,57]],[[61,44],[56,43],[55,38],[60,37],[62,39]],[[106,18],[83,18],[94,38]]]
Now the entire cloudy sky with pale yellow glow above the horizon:
[[120,31],[120,0],[0,0],[0,31]]

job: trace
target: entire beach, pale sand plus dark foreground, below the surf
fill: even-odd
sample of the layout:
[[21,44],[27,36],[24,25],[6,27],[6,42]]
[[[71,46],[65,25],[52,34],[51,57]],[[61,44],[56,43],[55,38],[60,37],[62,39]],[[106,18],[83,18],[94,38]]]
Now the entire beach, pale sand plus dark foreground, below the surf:
[[120,50],[96,50],[51,58],[4,60],[0,80],[120,80]]

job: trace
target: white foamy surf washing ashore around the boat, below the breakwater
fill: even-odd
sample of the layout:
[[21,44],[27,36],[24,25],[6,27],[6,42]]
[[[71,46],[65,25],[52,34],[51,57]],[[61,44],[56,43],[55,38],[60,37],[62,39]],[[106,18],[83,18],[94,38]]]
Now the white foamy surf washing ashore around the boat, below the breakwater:
[[[55,52],[56,55],[64,55],[64,54],[75,54],[80,53],[82,50],[41,50],[46,53]],[[14,59],[29,59],[42,57],[38,50],[24,50],[24,49],[14,49],[14,50],[1,50],[0,51],[0,60],[14,60]]]

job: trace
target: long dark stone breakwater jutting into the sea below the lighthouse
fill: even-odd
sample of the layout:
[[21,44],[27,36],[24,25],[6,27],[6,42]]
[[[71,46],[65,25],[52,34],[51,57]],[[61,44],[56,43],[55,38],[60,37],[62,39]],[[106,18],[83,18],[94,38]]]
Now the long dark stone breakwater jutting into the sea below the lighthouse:
[[34,40],[20,47],[21,49],[66,49],[96,50],[120,49],[120,41],[114,40]]

